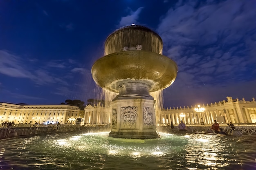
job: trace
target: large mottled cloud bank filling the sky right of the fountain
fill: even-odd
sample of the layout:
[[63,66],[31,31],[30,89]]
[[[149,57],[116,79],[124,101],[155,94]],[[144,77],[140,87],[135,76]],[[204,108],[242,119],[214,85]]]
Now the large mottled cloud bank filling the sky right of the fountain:
[[157,32],[184,84],[201,86],[192,73],[204,84],[249,81],[256,77],[255,16],[254,0],[180,0],[161,17]]

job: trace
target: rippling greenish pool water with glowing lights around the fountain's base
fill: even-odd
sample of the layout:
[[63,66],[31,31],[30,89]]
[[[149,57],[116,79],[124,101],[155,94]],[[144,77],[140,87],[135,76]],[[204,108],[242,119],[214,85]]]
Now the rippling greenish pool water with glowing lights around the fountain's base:
[[4,170],[255,170],[255,137],[160,134],[116,139],[108,133],[51,134],[0,141]]

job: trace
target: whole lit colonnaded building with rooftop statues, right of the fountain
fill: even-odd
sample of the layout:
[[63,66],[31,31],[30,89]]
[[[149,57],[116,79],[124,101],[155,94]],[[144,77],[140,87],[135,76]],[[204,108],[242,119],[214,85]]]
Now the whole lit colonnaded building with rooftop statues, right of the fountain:
[[[185,124],[213,124],[214,120],[219,123],[234,124],[252,124],[256,123],[256,102],[252,98],[251,101],[245,101],[239,99],[232,99],[227,97],[227,100],[221,102],[215,102],[207,105],[187,106],[180,108],[166,108],[156,110],[157,123],[158,124],[179,124],[182,120]],[[196,111],[196,110],[198,111]],[[202,111],[203,110],[203,111]]]

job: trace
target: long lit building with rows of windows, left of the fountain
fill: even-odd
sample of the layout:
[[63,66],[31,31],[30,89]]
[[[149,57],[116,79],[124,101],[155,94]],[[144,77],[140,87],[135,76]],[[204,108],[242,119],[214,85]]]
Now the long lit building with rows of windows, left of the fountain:
[[84,110],[68,104],[27,105],[0,103],[0,124],[75,124],[76,118],[84,117]]

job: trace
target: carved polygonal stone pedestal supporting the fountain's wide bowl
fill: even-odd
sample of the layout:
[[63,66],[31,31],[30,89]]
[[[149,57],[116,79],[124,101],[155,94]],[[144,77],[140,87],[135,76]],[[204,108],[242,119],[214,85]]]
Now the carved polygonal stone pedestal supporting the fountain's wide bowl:
[[119,95],[111,102],[112,128],[110,137],[155,139],[155,101],[149,95],[150,86],[126,83],[119,87]]

